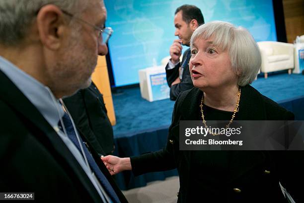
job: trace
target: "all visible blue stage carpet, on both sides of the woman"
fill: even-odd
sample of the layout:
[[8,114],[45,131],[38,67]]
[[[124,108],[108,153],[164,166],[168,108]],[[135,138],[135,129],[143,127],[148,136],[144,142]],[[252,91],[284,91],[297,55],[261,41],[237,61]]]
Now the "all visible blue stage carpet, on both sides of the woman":
[[[304,98],[304,76],[300,74],[273,74],[267,79],[259,77],[252,86],[280,104]],[[174,102],[169,99],[148,102],[141,97],[139,88],[120,91],[120,94],[113,94],[117,123],[113,129],[116,138],[163,129],[170,125]],[[283,106],[288,108],[284,104]],[[299,116],[296,118],[304,119]]]

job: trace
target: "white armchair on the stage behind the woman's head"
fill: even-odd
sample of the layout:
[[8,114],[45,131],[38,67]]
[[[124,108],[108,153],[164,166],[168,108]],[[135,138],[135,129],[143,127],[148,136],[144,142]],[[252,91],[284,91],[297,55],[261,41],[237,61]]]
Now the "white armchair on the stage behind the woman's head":
[[269,72],[294,68],[294,45],[290,43],[262,41],[257,43],[262,57],[261,72],[267,78]]

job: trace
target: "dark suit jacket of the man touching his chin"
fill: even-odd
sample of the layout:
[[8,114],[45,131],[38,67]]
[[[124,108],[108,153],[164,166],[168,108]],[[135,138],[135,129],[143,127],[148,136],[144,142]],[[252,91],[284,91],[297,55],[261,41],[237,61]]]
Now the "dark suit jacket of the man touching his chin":
[[[190,58],[188,58],[188,60],[187,60],[188,52],[190,52],[190,48],[184,52],[181,63],[176,64],[173,69],[167,70],[167,67],[169,66],[169,64],[166,65],[167,83],[168,83],[168,86],[170,87],[170,100],[175,101],[177,96],[181,92],[189,90],[194,87],[192,80],[191,80],[190,71],[189,71]],[[185,60],[187,60],[187,61],[185,61]],[[182,64],[185,64],[185,67],[184,67],[184,71],[183,71],[182,79],[180,80],[180,83],[178,83],[176,85],[171,85],[176,80],[176,78],[179,77],[179,68]]]

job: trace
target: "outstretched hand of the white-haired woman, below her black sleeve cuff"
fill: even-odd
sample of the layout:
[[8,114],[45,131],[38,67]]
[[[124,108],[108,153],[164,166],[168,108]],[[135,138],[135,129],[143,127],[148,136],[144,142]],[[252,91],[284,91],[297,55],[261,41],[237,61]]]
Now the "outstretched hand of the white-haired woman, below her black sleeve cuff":
[[101,157],[104,165],[107,167],[110,174],[118,174],[125,170],[132,170],[130,158],[120,158],[117,156],[108,155]]

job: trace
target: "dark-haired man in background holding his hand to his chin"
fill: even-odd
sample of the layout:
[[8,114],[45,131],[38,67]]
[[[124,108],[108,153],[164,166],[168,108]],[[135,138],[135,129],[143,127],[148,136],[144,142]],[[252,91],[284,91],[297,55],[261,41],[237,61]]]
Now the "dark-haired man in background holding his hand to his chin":
[[178,36],[179,39],[173,41],[169,51],[171,59],[166,65],[170,100],[175,101],[181,92],[194,87],[189,72],[190,48],[184,52],[181,62],[179,58],[182,53],[182,45],[190,45],[192,33],[201,24],[204,24],[204,17],[201,10],[195,5],[184,4],[176,9],[174,35]]

